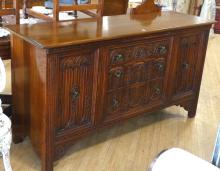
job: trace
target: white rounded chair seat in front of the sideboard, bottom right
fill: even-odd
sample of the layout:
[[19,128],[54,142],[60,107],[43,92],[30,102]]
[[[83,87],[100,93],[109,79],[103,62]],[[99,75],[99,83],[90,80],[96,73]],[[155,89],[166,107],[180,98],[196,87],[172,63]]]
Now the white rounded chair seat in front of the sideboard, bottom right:
[[150,171],[220,171],[211,163],[179,148],[163,152]]

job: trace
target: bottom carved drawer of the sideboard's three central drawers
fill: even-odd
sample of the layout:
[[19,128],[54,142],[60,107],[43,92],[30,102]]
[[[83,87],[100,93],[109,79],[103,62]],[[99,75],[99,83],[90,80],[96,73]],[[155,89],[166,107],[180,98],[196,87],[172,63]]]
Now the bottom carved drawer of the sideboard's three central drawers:
[[135,108],[144,108],[150,103],[161,103],[164,94],[163,85],[164,79],[157,79],[108,92],[106,116],[126,114]]

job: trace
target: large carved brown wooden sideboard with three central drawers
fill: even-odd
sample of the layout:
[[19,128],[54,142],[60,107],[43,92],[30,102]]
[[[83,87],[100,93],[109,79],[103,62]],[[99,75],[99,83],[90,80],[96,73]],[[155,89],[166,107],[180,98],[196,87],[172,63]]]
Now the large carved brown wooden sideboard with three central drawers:
[[53,170],[97,128],[180,105],[194,117],[212,21],[161,12],[7,26],[13,134]]

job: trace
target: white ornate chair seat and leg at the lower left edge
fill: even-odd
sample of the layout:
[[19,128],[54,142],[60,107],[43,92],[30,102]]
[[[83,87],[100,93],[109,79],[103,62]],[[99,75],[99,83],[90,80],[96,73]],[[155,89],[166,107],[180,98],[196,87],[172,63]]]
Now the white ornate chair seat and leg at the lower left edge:
[[0,99],[0,154],[2,154],[3,157],[5,171],[12,171],[10,164],[11,139],[11,121],[2,113]]

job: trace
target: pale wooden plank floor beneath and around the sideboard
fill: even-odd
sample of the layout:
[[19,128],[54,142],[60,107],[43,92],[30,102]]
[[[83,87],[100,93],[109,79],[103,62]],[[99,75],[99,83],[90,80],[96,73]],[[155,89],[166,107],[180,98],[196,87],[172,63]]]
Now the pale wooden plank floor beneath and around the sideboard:
[[[197,116],[180,107],[143,115],[90,135],[54,163],[55,171],[146,171],[162,150],[180,147],[210,161],[220,123],[220,35],[210,38]],[[14,171],[38,171],[29,139],[13,144]],[[0,161],[0,171],[2,161]]]

